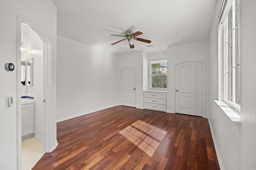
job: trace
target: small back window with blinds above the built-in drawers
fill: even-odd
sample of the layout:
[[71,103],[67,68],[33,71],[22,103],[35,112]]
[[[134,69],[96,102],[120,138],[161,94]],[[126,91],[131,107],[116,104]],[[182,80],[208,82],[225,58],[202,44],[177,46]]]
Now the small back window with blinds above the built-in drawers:
[[167,88],[167,60],[150,61],[150,88]]

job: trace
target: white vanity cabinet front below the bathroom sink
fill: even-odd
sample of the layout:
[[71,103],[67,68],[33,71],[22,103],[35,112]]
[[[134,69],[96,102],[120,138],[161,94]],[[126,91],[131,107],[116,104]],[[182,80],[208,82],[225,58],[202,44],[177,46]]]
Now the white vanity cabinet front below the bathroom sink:
[[34,133],[34,104],[21,105],[21,135]]

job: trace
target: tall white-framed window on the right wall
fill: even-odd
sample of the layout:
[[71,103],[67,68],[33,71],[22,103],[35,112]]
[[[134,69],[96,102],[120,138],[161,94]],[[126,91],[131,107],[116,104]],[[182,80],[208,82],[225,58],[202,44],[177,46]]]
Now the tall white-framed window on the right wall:
[[[223,22],[219,26],[219,75],[223,77],[223,100],[234,107],[240,107],[240,20],[239,20],[239,1],[229,0],[225,10],[228,13],[223,15]],[[230,2],[230,3],[229,3]],[[223,69],[223,73],[221,70]],[[222,94],[220,94],[222,95]]]

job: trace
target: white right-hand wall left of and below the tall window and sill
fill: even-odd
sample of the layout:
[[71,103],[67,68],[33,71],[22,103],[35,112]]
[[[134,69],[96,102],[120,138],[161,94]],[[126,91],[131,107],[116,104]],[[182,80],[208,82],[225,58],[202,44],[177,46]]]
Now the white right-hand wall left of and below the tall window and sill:
[[[218,0],[209,36],[209,118],[219,150],[219,164],[226,170],[239,170],[239,128],[214,102],[218,100]],[[217,148],[216,148],[217,149]]]

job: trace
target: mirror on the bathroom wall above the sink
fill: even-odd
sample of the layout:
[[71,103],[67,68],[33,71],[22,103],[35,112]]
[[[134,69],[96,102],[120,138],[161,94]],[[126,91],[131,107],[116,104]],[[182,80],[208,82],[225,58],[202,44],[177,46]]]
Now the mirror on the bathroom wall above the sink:
[[34,85],[34,57],[28,58],[27,51],[21,52],[21,85]]

